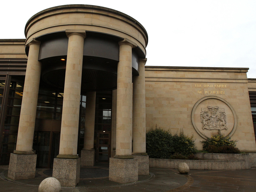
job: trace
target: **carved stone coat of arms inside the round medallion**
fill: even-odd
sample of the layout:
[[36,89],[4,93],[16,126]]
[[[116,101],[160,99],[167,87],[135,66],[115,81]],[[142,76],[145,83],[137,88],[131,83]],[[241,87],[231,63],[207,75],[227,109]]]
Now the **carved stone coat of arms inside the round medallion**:
[[226,129],[226,113],[224,108],[219,108],[218,106],[208,106],[207,108],[202,108],[200,113],[201,123],[203,123],[202,129]]

